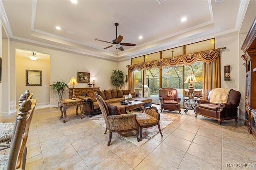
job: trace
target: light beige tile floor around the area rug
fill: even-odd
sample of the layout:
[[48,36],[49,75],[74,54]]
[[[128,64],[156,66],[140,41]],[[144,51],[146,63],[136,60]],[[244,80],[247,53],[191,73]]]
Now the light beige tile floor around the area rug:
[[[178,114],[178,111],[166,111]],[[27,142],[27,170],[226,170],[256,163],[256,141],[241,120],[218,121],[183,113],[153,139],[138,147],[109,133],[75,108],[67,110],[67,122],[57,108],[36,109]],[[15,114],[3,117],[14,121]],[[2,150],[8,154],[9,149]],[[239,168],[254,169],[255,167]]]

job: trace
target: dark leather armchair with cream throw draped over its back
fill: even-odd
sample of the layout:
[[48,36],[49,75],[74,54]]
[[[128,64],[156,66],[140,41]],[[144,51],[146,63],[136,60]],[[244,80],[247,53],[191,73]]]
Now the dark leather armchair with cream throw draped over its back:
[[237,107],[239,106],[241,93],[227,88],[215,88],[209,92],[208,100],[197,100],[196,117],[204,117],[221,121],[235,119],[237,122]]

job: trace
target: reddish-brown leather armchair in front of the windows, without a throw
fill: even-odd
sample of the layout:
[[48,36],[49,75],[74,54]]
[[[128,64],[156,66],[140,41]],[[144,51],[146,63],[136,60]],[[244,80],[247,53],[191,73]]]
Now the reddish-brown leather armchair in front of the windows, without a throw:
[[175,88],[160,88],[159,91],[160,110],[178,110],[180,113],[180,98],[178,98],[178,92]]

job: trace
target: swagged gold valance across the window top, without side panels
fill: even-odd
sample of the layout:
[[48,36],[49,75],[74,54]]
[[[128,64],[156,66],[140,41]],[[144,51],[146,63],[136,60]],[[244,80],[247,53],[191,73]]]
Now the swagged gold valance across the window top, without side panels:
[[212,63],[216,60],[220,55],[220,50],[211,49],[207,51],[201,51],[191,54],[179,55],[176,57],[169,57],[165,59],[159,59],[155,61],[149,61],[145,63],[138,63],[128,65],[128,70],[133,72],[135,70],[150,70],[155,68],[169,68],[171,66],[184,66],[184,65],[192,65],[194,63]]

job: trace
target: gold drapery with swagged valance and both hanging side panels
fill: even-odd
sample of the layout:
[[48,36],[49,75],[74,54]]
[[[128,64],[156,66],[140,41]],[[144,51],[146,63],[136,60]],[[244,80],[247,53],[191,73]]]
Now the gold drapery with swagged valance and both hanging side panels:
[[220,88],[220,50],[212,49],[192,54],[169,57],[145,63],[128,65],[128,76],[130,90],[133,89],[133,74],[135,70],[150,70],[154,68],[169,68],[171,66],[193,65],[194,63],[203,63],[203,98],[207,99],[208,93],[212,88]]

